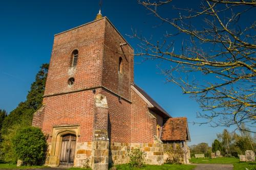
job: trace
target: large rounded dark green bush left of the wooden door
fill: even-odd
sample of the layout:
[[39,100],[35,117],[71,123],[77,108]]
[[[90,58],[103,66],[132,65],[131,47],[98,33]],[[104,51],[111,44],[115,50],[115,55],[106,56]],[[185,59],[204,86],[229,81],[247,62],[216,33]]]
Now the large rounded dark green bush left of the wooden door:
[[47,142],[39,128],[27,127],[16,133],[12,139],[14,155],[26,165],[40,165],[45,162]]

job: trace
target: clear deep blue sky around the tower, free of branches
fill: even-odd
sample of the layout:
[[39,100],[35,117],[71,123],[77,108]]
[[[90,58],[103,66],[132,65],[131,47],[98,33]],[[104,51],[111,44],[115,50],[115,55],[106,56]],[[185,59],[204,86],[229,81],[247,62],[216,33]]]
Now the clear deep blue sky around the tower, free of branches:
[[[181,1],[180,1],[181,2]],[[182,1],[191,6],[190,1]],[[186,2],[186,3],[184,3]],[[190,3],[190,4],[189,4]],[[98,1],[1,1],[0,2],[0,109],[12,111],[26,95],[42,63],[50,61],[54,34],[92,21],[98,13]],[[172,10],[163,13],[172,14]],[[168,26],[155,27],[159,20],[136,1],[103,1],[103,16],[107,16],[136,50],[138,41],[126,34],[131,28],[145,36],[161,37]],[[180,39],[177,39],[179,42]],[[200,122],[199,105],[179,87],[166,83],[158,61],[135,59],[135,82],[152,96],[173,117]],[[168,66],[168,65],[167,65]],[[211,145],[224,128],[189,124],[191,142]],[[232,130],[233,128],[229,129]]]

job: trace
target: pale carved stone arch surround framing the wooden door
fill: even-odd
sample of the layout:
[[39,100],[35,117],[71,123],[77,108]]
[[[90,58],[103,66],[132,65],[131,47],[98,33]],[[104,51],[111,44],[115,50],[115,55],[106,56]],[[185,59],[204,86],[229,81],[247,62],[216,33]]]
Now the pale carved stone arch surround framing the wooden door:
[[[76,141],[77,141],[79,137],[79,133],[80,133],[79,126],[53,127],[52,143],[51,143],[51,147],[49,146],[49,149],[50,149],[49,166],[54,166],[54,167],[59,166],[62,136],[67,134],[73,134],[76,136]],[[74,166],[75,166],[75,160],[74,160]]]

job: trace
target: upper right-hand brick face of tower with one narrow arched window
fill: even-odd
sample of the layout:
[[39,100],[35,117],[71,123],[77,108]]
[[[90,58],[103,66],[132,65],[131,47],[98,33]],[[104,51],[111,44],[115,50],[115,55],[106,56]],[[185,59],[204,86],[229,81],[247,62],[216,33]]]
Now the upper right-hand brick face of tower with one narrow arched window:
[[[103,86],[120,94],[126,99],[131,99],[130,88],[133,84],[133,49],[129,44],[120,47],[126,41],[106,20],[103,59]],[[126,55],[123,55],[123,52]],[[122,58],[123,73],[118,72],[119,58]]]

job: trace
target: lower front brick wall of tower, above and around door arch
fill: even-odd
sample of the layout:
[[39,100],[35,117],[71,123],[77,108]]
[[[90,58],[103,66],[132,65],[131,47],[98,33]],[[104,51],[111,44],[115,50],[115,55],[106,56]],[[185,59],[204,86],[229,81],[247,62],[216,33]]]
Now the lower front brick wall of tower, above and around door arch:
[[[53,126],[80,125],[78,142],[92,141],[94,95],[88,90],[44,98],[46,108],[42,131],[51,136]],[[51,137],[48,142],[51,142]]]

